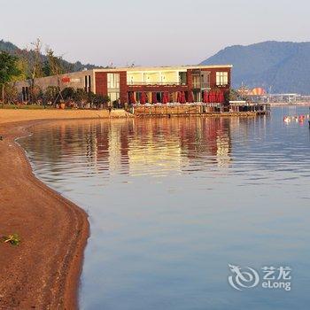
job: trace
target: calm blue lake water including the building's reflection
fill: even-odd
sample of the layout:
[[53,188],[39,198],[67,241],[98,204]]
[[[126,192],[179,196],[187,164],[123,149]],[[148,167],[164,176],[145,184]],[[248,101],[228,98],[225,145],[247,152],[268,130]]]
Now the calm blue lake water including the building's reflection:
[[[89,213],[81,309],[307,309],[310,133],[283,122],[304,113],[35,126],[35,174]],[[262,267],[291,267],[291,291]]]

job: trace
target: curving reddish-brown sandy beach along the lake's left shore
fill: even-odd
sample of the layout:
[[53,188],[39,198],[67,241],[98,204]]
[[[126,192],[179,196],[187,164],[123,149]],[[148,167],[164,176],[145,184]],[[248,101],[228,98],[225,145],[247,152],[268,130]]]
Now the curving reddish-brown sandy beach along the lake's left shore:
[[1,309],[75,309],[87,214],[35,178],[14,139],[50,120],[126,117],[126,112],[0,110],[0,235],[17,233],[19,246],[0,243]]

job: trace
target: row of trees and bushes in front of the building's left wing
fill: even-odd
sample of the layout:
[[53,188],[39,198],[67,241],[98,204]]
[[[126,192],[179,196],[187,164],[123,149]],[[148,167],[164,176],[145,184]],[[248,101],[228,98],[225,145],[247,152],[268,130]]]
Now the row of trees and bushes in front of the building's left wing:
[[99,96],[84,89],[49,87],[43,91],[35,85],[35,79],[50,75],[72,72],[62,56],[55,54],[49,46],[43,55],[43,43],[36,39],[25,50],[0,51],[0,86],[3,104],[21,101],[14,81],[29,82],[28,102],[42,105],[58,105],[60,102],[72,105],[106,105],[110,98]]

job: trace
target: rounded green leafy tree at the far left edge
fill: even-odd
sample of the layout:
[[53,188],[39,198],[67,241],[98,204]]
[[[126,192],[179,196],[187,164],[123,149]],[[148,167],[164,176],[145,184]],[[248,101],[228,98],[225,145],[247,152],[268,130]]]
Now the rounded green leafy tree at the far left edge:
[[8,54],[5,51],[0,51],[0,85],[2,89],[2,103],[4,104],[4,86],[12,81],[14,76],[20,74],[18,58]]

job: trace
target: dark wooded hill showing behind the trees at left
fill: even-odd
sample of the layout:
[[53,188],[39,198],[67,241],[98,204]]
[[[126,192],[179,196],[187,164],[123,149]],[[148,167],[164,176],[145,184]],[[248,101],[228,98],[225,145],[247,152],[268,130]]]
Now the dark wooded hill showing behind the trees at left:
[[[15,55],[19,55],[21,52],[21,49],[19,49],[19,47],[17,47],[11,42],[5,42],[4,40],[0,40],[0,50],[4,50],[6,52],[9,52]],[[44,55],[42,55],[42,58],[43,58],[43,61],[46,60],[46,57]],[[80,61],[71,63],[66,60],[63,60],[62,65],[66,68],[67,73],[77,72],[77,71],[81,71],[84,69],[90,70],[90,69],[96,69],[96,68],[102,67],[102,66],[95,66],[95,65],[90,65],[90,64],[84,65],[84,64],[81,64]]]

